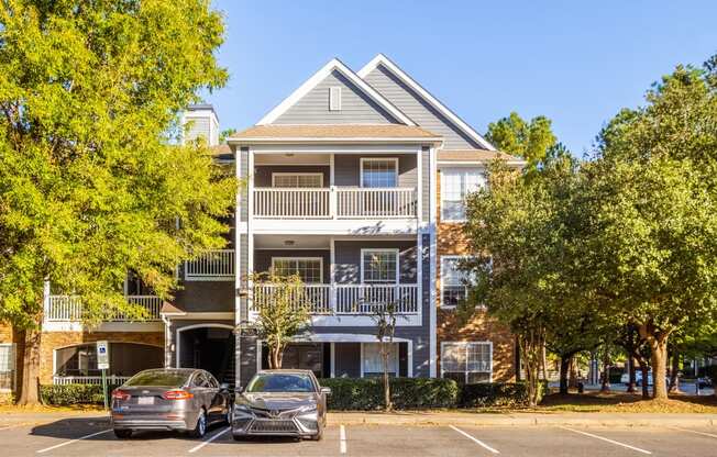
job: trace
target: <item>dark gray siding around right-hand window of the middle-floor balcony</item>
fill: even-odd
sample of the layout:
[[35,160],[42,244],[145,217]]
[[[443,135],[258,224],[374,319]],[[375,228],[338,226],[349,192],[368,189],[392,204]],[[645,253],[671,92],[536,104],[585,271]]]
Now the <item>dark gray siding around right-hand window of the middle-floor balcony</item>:
[[361,282],[362,248],[399,249],[399,271],[401,283],[416,283],[416,242],[411,241],[337,241],[334,244],[334,272],[338,283]]

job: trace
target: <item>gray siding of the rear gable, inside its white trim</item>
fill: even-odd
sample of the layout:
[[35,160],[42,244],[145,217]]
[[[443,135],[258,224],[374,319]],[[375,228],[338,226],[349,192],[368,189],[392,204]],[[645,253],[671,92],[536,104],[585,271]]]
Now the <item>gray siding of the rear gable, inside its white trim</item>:
[[461,132],[383,65],[376,67],[364,79],[418,125],[443,136],[445,149],[483,149],[483,146]]

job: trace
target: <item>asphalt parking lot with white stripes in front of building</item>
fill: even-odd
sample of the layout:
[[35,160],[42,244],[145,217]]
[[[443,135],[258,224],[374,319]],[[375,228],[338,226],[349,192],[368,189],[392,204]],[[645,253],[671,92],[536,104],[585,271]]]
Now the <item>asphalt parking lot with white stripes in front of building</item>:
[[[405,426],[330,424],[321,442],[235,442],[165,432],[117,439],[107,419],[63,419],[0,430],[7,456],[717,456],[717,427]],[[0,455],[1,455],[0,454]]]

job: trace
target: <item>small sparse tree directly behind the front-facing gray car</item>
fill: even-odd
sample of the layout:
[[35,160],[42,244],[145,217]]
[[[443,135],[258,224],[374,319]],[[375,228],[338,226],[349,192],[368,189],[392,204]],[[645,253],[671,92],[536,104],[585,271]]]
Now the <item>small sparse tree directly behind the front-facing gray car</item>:
[[268,346],[269,368],[282,368],[284,349],[309,325],[311,300],[298,275],[282,276],[271,270],[250,279],[264,286],[253,300],[254,325]]

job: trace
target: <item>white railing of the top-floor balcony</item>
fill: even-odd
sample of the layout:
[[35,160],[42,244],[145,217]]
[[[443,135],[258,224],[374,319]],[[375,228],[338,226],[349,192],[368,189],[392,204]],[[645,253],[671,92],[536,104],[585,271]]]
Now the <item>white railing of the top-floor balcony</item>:
[[372,219],[417,216],[412,188],[257,188],[254,216],[261,219]]

